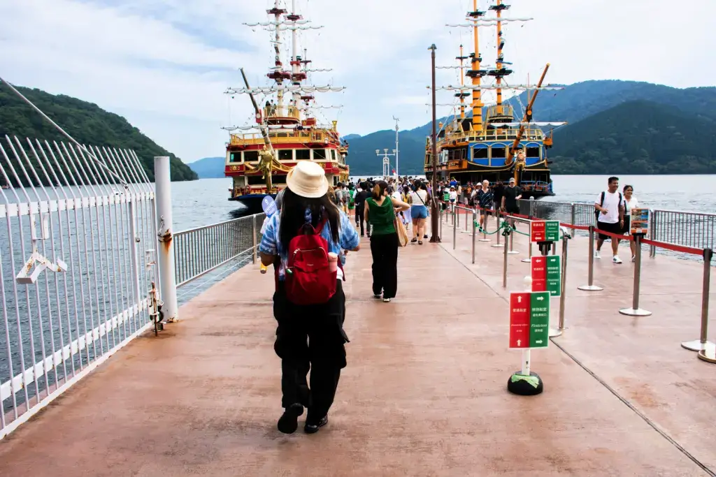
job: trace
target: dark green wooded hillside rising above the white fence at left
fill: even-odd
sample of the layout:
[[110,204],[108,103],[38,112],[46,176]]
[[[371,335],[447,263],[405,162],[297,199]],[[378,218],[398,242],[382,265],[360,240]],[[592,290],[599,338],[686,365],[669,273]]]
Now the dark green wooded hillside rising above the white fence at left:
[[[195,180],[197,175],[174,154],[155,144],[123,117],[88,102],[39,89],[17,87],[19,92],[57,122],[80,144],[134,149],[150,180],[154,180],[154,157],[169,156],[172,180]],[[37,112],[4,84],[0,84],[0,137],[66,141]]]

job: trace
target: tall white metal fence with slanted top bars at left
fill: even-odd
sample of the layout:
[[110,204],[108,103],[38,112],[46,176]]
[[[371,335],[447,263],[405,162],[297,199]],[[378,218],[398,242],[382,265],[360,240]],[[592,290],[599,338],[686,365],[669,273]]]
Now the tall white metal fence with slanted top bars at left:
[[147,329],[155,192],[127,149],[0,138],[0,438]]

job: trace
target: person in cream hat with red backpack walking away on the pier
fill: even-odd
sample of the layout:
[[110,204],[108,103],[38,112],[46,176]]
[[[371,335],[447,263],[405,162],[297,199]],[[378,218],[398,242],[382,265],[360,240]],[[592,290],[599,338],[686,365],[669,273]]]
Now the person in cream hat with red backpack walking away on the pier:
[[[328,423],[346,366],[344,272],[337,256],[342,249],[359,250],[360,238],[332,202],[329,189],[322,167],[309,161],[296,164],[286,176],[281,214],[271,216],[258,246],[263,265],[279,264],[274,350],[281,358],[282,433],[296,431],[304,407],[306,433]],[[304,266],[307,262],[311,266]]]

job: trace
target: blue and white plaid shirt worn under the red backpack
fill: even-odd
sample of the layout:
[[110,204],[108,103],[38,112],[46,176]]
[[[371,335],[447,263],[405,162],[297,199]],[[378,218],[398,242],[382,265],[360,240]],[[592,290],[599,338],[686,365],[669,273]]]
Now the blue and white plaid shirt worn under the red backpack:
[[[324,237],[328,241],[328,251],[333,252],[341,257],[341,262],[345,263],[344,257],[342,257],[342,250],[353,250],[360,243],[360,237],[358,232],[353,227],[350,219],[344,212],[340,212],[341,216],[341,230],[338,235],[339,242],[333,241],[331,234],[331,225],[326,222],[326,225],[321,230],[321,237]],[[310,215],[308,215],[310,220]],[[279,224],[281,223],[281,214],[276,213],[269,217],[269,221],[266,223],[266,229],[263,230],[263,237],[261,237],[261,243],[258,245],[258,251],[265,253],[266,255],[279,255],[281,257],[281,265],[279,265],[279,280],[283,281],[286,278],[286,264],[289,261],[289,251],[284,250],[281,245],[279,235]],[[338,278],[342,278],[341,269],[338,269]]]

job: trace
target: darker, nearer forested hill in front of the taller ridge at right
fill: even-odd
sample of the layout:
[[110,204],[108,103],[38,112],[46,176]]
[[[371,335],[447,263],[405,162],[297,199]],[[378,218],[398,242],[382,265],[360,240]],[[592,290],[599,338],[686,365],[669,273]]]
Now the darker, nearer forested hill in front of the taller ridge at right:
[[555,133],[556,174],[715,174],[716,123],[649,101],[619,104]]

